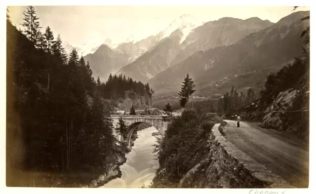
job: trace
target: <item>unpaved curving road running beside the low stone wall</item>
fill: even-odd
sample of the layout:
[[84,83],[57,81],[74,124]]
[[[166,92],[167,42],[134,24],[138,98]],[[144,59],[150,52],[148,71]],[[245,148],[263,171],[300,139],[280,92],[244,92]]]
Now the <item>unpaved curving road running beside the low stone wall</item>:
[[227,122],[226,138],[276,175],[298,188],[309,185],[309,148],[290,135],[255,124]]

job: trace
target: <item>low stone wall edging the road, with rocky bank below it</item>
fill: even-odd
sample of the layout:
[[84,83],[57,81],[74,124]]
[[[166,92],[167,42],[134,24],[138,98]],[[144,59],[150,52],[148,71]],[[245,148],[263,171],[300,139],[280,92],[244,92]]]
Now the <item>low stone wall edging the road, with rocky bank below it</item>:
[[180,181],[179,188],[295,188],[240,151],[215,124],[210,153]]

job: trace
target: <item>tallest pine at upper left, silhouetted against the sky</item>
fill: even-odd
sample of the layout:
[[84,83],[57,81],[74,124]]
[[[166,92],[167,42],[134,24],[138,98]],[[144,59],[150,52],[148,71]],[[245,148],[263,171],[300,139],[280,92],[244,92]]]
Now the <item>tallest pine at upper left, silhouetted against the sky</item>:
[[23,33],[25,36],[32,41],[32,43],[37,47],[41,47],[42,35],[40,32],[40,22],[37,17],[37,13],[34,6],[28,6],[26,11],[23,11],[24,22],[22,26],[24,27]]

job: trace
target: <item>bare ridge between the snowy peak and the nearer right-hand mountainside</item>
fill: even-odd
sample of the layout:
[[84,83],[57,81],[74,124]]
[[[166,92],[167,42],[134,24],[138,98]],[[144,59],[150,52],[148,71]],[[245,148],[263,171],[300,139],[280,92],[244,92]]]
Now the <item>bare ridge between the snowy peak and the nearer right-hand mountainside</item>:
[[234,44],[249,34],[259,32],[273,24],[268,20],[263,21],[259,18],[249,18],[246,20],[221,18],[216,21],[206,22],[194,29],[185,39],[182,43],[185,49],[172,60],[171,66],[185,60],[198,50],[206,51],[214,48],[216,44],[217,46]]

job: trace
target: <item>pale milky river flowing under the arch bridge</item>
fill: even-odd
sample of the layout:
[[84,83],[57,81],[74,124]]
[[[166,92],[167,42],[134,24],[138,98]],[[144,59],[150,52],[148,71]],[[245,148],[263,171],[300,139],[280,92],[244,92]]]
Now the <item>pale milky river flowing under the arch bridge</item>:
[[138,138],[134,141],[132,151],[126,155],[126,162],[120,166],[121,178],[113,179],[101,188],[139,188],[148,186],[155,177],[158,160],[153,153],[157,132],[155,127],[137,131]]

